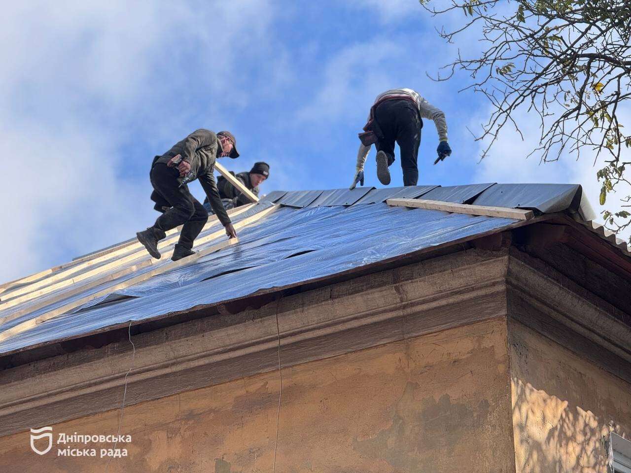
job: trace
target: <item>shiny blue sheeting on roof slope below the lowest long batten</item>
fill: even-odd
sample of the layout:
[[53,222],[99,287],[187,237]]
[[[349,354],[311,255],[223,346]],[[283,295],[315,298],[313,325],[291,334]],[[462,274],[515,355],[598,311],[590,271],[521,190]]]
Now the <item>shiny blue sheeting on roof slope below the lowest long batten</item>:
[[332,276],[515,222],[386,204],[281,208],[240,230],[239,245],[115,293],[133,298],[38,324],[1,342],[0,353]]

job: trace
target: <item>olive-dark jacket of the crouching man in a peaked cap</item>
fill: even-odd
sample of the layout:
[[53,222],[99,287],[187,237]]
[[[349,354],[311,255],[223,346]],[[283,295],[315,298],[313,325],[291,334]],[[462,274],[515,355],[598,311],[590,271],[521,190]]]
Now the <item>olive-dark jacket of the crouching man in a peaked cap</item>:
[[[173,156],[181,155],[182,159],[191,165],[191,172],[199,180],[199,184],[206,192],[206,198],[213,207],[213,211],[223,226],[230,223],[230,217],[221,204],[221,197],[215,184],[215,160],[221,154],[221,141],[214,132],[200,128],[169,149],[162,156],[156,156],[155,163],[167,164]],[[152,164],[152,166],[153,166]],[[184,178],[179,178],[182,182]]]

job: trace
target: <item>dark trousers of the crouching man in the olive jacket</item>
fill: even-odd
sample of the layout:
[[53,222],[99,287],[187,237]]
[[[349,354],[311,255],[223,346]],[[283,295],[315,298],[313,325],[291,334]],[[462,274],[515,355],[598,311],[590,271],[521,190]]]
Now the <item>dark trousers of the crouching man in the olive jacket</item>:
[[163,163],[156,163],[151,168],[150,178],[153,189],[170,205],[165,213],[158,217],[153,228],[168,231],[184,225],[180,231],[179,244],[191,249],[195,238],[208,221],[208,212],[192,196],[187,185],[179,187],[177,168],[170,168]]

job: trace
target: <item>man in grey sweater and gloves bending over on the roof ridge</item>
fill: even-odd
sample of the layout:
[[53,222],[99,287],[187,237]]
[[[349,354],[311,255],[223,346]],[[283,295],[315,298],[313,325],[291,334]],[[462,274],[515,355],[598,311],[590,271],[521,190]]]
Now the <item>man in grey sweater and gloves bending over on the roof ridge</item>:
[[401,150],[403,185],[416,185],[418,182],[418,146],[421,143],[422,119],[433,120],[439,136],[438,158],[434,164],[451,155],[447,143],[447,122],[445,114],[431,105],[418,92],[412,89],[392,89],[377,95],[370,107],[368,123],[359,134],[362,144],[357,153],[357,168],[350,189],[358,182],[363,185],[363,165],[372,144],[377,148],[377,177],[383,185],[390,184],[388,167],[394,163],[394,142]]

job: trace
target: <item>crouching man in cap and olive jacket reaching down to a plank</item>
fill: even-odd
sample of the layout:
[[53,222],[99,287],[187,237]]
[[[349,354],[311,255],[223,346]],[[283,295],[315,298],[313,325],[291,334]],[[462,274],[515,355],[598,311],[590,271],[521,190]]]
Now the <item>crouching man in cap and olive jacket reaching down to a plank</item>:
[[237,237],[230,217],[221,204],[213,175],[215,160],[220,156],[239,157],[235,137],[228,131],[215,134],[202,128],[176,143],[162,156],[153,158],[149,173],[153,185],[151,200],[156,202],[154,208],[163,213],[153,226],[136,233],[138,241],[151,256],[160,258],[158,242],[167,236],[168,230],[179,225],[183,225],[182,231],[171,259],[177,261],[194,254],[193,242],[208,220],[208,212],[192,196],[187,185],[195,179],[199,180],[206,192],[228,237]]

